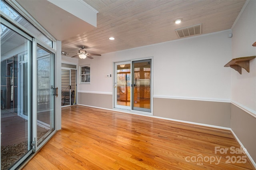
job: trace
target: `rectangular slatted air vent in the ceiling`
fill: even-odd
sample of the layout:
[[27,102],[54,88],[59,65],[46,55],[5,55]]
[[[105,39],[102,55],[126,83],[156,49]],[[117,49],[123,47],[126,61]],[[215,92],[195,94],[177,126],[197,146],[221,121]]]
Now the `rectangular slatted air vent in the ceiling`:
[[179,38],[202,34],[202,24],[175,30]]

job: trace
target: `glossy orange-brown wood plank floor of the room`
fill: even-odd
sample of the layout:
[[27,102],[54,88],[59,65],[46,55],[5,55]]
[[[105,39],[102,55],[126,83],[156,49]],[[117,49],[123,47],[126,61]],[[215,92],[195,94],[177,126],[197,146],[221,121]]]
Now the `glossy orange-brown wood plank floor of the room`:
[[229,130],[72,106],[24,170],[253,170],[231,147],[240,145]]

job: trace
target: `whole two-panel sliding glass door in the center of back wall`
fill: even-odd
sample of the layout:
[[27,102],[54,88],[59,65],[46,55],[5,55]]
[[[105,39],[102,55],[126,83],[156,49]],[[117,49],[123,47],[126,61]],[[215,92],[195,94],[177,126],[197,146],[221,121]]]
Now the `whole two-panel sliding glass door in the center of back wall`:
[[151,59],[116,62],[114,108],[151,113]]

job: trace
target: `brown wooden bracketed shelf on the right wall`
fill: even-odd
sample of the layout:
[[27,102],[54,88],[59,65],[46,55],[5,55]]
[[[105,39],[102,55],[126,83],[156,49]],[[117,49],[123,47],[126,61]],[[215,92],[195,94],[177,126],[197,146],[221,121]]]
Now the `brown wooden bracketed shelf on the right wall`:
[[256,56],[250,56],[250,57],[240,57],[240,58],[234,58],[224,67],[231,67],[232,69],[235,69],[238,71],[238,73],[242,74],[242,68],[244,68],[248,73],[250,72],[250,60],[254,59]]

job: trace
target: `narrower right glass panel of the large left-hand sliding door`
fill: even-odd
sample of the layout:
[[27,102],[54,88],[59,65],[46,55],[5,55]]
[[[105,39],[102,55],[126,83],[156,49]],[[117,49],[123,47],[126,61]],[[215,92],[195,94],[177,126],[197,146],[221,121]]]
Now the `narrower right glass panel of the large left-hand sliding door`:
[[54,130],[54,53],[37,46],[37,141]]

